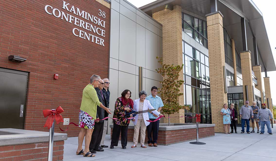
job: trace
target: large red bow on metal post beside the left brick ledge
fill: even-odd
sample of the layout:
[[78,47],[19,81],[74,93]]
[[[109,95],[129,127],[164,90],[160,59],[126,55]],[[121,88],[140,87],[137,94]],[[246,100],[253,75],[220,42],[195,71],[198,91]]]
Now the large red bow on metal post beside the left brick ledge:
[[52,110],[43,110],[44,117],[48,117],[44,127],[47,127],[48,130],[52,127],[54,120],[59,124],[63,122],[63,118],[60,113],[64,112],[64,110],[59,106],[55,111]]

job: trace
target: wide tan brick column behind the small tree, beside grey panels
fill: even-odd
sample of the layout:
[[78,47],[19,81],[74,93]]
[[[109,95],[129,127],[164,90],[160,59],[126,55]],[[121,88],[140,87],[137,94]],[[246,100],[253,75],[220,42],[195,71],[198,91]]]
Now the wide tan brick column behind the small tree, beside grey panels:
[[[153,13],[152,18],[163,25],[163,60],[165,64],[182,65],[182,18],[181,7],[174,6],[173,10],[164,9]],[[183,80],[183,70],[180,73],[179,79]],[[183,85],[180,87],[180,92],[183,93]],[[184,96],[179,97],[179,104],[184,105]],[[184,116],[184,109],[179,110],[179,113],[170,115],[172,117]],[[168,122],[168,119],[164,119]],[[184,123],[185,118],[171,118],[171,123]]]

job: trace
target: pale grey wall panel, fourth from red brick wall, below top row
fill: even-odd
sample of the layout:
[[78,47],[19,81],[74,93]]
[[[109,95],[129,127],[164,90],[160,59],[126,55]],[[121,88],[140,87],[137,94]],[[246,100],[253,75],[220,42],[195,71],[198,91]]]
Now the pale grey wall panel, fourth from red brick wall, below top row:
[[157,35],[146,29],[146,69],[155,70],[158,68],[156,57],[158,56]]

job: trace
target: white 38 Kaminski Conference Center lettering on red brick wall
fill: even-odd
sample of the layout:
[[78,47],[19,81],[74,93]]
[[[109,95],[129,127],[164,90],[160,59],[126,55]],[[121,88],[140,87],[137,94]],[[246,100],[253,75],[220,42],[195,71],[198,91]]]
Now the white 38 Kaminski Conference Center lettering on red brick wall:
[[[69,3],[63,1],[63,6],[62,9],[65,9],[72,14],[77,15],[78,17],[82,17],[86,20],[83,21],[76,17],[75,15],[70,15],[67,13],[64,13],[62,10],[59,10],[57,8],[53,8],[50,5],[46,5],[44,7],[45,12],[49,15],[53,15],[57,18],[60,18],[62,20],[65,20],[69,23],[72,23],[78,27],[83,28],[84,30],[78,29],[78,28],[73,28],[72,32],[75,36],[78,36],[83,39],[87,39],[88,41],[91,41],[93,43],[99,44],[104,46],[104,40],[101,37],[105,37],[105,30],[99,28],[103,27],[105,28],[105,21],[102,20],[102,18],[105,18],[105,12],[102,10],[98,10],[99,14],[96,17],[94,15],[89,14],[88,12],[79,9],[78,7],[74,7],[73,5],[70,5]],[[93,34],[89,33],[92,32]],[[95,36],[97,35],[97,36]]]

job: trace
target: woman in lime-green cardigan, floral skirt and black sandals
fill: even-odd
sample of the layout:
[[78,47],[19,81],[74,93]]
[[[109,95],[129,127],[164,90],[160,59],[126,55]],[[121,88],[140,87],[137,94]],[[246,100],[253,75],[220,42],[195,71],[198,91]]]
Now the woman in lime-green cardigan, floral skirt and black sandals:
[[[95,88],[98,87],[100,84],[100,76],[92,75],[90,78],[90,82],[84,89],[83,89],[83,97],[81,99],[81,108],[79,109],[79,127],[81,127],[81,131],[79,132],[78,137],[78,149],[76,154],[83,155],[84,157],[95,157],[95,154],[92,154],[89,151],[89,144],[91,141],[92,132],[94,129],[94,122],[97,115],[97,105],[101,108],[105,109],[107,113],[111,109],[105,107],[100,101],[97,96],[97,92]],[[84,134],[86,131],[85,136],[85,148],[84,151],[82,149]]]

